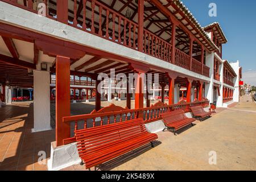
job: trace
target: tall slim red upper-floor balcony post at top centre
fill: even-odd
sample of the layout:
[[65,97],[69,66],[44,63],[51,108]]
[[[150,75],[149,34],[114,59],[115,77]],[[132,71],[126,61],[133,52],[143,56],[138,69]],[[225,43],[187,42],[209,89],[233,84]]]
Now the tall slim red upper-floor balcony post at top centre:
[[138,51],[143,51],[144,0],[138,0]]

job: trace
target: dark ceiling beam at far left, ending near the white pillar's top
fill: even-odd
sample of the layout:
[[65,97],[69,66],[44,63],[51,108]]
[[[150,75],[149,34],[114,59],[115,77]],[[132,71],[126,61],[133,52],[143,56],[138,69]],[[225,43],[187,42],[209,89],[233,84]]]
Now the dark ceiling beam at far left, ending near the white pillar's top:
[[22,61],[22,60],[14,58],[14,57],[5,56],[2,54],[0,54],[0,62],[17,65],[17,66],[23,67],[23,68],[36,69],[36,65],[33,63],[28,63],[27,61]]

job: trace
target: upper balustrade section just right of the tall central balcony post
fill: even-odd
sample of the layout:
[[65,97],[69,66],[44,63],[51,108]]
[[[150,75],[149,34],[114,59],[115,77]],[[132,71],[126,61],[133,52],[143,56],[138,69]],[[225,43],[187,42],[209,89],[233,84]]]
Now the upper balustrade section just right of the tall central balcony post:
[[159,38],[150,31],[144,30],[143,51],[148,55],[157,57],[171,63],[172,45],[166,40]]

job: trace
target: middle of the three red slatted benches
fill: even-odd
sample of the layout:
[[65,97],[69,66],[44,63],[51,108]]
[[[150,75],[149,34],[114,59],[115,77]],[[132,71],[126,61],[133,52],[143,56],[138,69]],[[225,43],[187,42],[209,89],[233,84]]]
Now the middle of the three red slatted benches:
[[193,125],[192,122],[196,121],[195,118],[188,118],[182,109],[162,113],[162,119],[166,126],[164,130],[171,129],[175,135],[177,135],[177,130],[188,125]]

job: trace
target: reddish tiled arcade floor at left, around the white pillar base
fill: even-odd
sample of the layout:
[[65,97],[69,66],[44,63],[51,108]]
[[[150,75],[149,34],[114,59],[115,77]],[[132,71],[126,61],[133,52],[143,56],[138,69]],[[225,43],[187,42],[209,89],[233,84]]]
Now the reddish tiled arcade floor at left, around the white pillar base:
[[31,103],[0,108],[0,170],[47,170],[46,160],[38,162],[38,152],[49,158],[55,132],[31,133],[32,127]]

